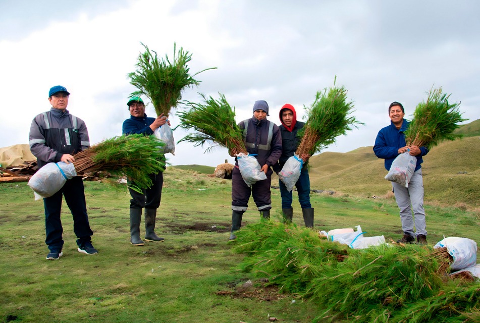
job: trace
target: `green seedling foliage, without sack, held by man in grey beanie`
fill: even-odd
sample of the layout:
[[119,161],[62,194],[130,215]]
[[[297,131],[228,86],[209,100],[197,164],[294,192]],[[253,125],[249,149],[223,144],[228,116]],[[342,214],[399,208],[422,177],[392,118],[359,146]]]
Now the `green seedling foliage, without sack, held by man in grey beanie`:
[[204,103],[187,102],[190,109],[177,113],[180,118],[179,127],[195,131],[180,139],[179,142],[193,142],[195,146],[202,147],[205,143],[216,143],[205,151],[222,146],[229,150],[236,148],[238,152],[246,154],[242,130],[235,121],[235,106],[232,108],[225,95],[219,94],[219,99],[211,96],[206,98],[205,95],[200,94]]

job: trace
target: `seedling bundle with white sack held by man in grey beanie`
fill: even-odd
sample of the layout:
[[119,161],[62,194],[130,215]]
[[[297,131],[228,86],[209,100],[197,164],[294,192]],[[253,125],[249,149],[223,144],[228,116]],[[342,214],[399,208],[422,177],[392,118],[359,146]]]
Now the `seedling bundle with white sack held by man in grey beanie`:
[[180,127],[195,131],[179,142],[193,142],[195,146],[215,143],[206,151],[217,146],[226,147],[229,150],[235,148],[238,153],[238,167],[245,183],[251,186],[258,180],[266,179],[257,159],[247,153],[243,131],[235,122],[235,106],[232,109],[225,95],[221,93],[219,99],[201,96],[204,103],[188,102],[190,109],[177,113],[181,121]]

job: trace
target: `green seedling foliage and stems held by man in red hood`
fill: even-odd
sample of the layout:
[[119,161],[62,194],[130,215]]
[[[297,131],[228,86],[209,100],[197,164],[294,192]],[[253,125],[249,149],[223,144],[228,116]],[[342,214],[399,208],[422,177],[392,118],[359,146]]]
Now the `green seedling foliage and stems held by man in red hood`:
[[298,133],[302,140],[295,152],[297,155],[313,155],[334,143],[336,137],[362,124],[350,116],[353,102],[347,102],[347,90],[344,86],[336,87],[335,82],[336,78],[333,87],[316,92],[310,107],[304,106],[308,119]]

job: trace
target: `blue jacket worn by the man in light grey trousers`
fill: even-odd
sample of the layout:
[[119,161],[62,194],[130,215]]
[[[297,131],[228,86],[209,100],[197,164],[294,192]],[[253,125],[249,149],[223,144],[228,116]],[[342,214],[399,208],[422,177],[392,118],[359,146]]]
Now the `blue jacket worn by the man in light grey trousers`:
[[[409,121],[403,119],[402,127],[397,129],[393,122],[390,121],[390,126],[382,128],[377,135],[374,145],[374,152],[377,157],[385,159],[385,169],[387,171],[390,171],[393,160],[399,155],[398,149],[407,145],[405,142],[404,132],[407,130],[409,124]],[[421,156],[424,156],[429,152],[429,150],[425,147],[420,147],[420,150],[421,154],[416,156],[417,165],[415,167],[415,171],[421,168],[420,164],[423,163]]]

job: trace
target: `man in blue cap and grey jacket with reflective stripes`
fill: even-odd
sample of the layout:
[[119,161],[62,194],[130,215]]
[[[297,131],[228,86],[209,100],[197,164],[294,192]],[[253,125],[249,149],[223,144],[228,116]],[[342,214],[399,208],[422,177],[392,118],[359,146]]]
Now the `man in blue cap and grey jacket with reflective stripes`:
[[[70,93],[63,86],[50,88],[48,101],[51,109],[33,119],[30,127],[30,150],[37,157],[38,169],[48,163],[64,161],[73,163],[74,154],[90,146],[87,127],[83,120],[69,114],[67,111]],[[80,177],[67,180],[60,191],[43,199],[45,207],[45,243],[48,245],[48,260],[57,260],[62,255],[63,228],[60,220],[62,196],[65,196],[73,216],[73,231],[77,236],[78,251],[84,254],[95,254],[88,223],[87,208],[83,182]]]

